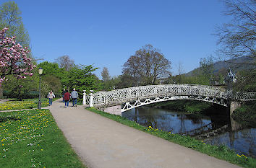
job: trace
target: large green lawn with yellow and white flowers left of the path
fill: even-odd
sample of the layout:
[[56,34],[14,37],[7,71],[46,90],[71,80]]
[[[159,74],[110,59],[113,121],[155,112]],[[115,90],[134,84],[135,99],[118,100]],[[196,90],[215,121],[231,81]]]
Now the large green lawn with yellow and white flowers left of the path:
[[49,110],[0,112],[0,167],[84,167]]

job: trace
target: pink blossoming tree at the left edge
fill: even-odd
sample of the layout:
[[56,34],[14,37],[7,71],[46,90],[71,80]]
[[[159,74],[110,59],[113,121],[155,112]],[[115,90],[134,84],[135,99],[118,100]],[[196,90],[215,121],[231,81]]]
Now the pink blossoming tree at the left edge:
[[17,79],[32,76],[35,68],[32,59],[27,57],[30,52],[27,47],[22,48],[15,37],[6,37],[8,28],[0,31],[0,87],[7,76],[14,75]]

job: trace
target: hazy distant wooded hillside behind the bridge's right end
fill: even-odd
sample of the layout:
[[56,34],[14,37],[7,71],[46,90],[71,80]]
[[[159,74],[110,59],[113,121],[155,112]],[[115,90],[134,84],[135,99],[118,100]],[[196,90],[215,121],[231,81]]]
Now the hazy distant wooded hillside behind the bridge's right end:
[[[252,65],[243,65],[242,63],[244,62],[252,62],[253,59],[252,58],[245,58],[245,57],[241,57],[241,58],[234,58],[234,59],[230,59],[228,61],[218,61],[216,63],[213,63],[213,74],[218,74],[218,73],[225,73],[227,72],[227,70],[229,69],[229,67],[231,68],[232,71],[234,71],[234,73],[236,73],[237,71],[243,70],[243,69],[252,69],[252,68],[256,68],[255,66]],[[239,64],[241,63],[241,64]],[[193,76],[196,71],[198,71],[199,68],[195,68],[192,71],[189,71],[187,74],[185,74],[185,76]]]

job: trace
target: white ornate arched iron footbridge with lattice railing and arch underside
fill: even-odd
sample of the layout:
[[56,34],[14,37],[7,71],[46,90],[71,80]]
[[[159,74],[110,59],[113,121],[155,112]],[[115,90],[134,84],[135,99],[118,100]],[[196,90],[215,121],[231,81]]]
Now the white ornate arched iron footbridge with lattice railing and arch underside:
[[98,92],[84,96],[84,103],[99,108],[121,105],[121,112],[142,105],[168,100],[200,100],[228,106],[229,100],[255,100],[255,92],[232,93],[221,87],[198,84],[148,85]]

